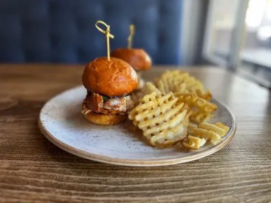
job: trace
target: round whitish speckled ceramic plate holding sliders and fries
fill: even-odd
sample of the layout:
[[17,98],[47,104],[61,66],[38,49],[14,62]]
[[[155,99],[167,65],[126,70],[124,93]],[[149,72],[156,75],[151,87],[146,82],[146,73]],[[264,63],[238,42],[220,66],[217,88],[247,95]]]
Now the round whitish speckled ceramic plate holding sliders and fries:
[[180,145],[158,149],[146,145],[129,130],[129,122],[115,126],[92,124],[81,114],[86,96],[83,86],[69,89],[49,100],[39,116],[39,128],[44,136],[60,148],[86,159],[126,166],[163,166],[200,159],[223,148],[234,137],[236,122],[227,107],[218,106],[212,122],[220,121],[230,130],[218,145],[204,145],[198,150],[186,150]]

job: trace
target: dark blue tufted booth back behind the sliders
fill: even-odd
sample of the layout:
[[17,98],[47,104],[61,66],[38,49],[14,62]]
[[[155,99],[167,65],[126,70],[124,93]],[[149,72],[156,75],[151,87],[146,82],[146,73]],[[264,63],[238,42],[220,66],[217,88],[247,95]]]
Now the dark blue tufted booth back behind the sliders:
[[0,0],[0,62],[86,63],[106,55],[97,20],[110,25],[111,50],[134,47],[154,63],[182,64],[182,0]]

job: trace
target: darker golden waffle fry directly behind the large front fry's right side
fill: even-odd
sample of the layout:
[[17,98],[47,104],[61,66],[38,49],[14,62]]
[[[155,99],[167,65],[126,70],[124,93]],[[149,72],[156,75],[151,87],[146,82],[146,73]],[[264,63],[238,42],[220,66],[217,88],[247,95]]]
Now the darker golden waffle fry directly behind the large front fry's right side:
[[195,93],[175,92],[174,96],[179,99],[178,103],[184,102],[193,110],[190,120],[196,123],[209,121],[217,109],[215,104],[198,97]]

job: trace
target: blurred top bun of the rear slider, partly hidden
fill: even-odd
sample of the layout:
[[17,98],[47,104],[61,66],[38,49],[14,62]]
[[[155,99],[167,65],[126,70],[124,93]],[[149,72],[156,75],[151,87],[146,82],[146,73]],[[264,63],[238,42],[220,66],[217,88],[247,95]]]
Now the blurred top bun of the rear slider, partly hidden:
[[152,63],[150,56],[143,49],[116,49],[110,56],[125,60],[137,71],[149,69]]

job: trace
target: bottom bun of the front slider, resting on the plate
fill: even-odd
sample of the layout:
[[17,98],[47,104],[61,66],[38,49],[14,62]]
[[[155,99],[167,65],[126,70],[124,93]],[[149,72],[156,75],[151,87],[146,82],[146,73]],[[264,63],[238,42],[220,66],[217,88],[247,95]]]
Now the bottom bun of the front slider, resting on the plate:
[[99,125],[115,125],[123,122],[127,118],[127,115],[104,115],[89,112],[88,114],[85,114],[85,117],[88,119],[88,121]]

